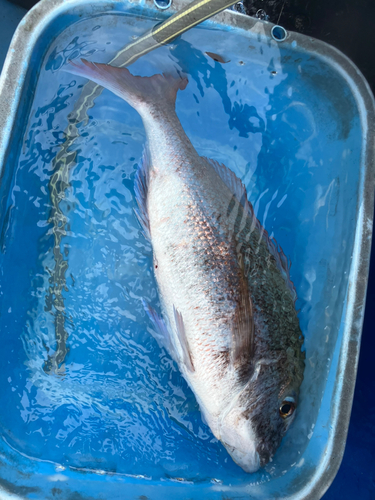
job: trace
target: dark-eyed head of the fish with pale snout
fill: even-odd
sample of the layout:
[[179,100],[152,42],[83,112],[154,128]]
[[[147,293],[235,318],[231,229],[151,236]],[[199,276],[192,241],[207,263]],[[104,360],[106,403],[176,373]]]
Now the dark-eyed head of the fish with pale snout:
[[220,419],[220,440],[245,472],[272,459],[296,416],[303,368],[285,369],[285,361],[260,362]]

